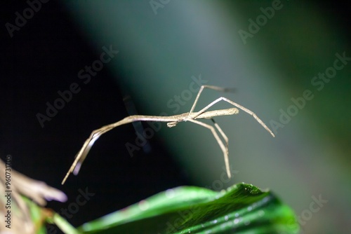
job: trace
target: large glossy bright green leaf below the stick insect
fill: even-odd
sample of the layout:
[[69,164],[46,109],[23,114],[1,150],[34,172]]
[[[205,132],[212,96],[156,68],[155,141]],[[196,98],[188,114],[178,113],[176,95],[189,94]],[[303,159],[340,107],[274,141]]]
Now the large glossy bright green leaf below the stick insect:
[[[113,203],[113,200],[111,201]],[[183,186],[84,223],[81,233],[298,233],[293,211],[270,191]]]

